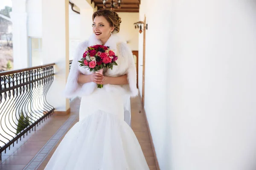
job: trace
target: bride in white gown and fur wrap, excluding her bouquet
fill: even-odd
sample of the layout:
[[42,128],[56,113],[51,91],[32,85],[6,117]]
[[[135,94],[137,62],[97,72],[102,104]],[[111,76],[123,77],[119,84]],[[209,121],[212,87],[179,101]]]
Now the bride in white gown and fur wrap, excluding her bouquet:
[[[94,12],[93,35],[78,45],[65,90],[67,97],[81,96],[79,122],[64,136],[45,170],[149,170],[129,126],[130,96],[138,93],[136,68],[131,50],[119,40],[120,23],[114,11]],[[118,65],[105,69],[103,76],[77,62],[96,44],[109,46],[118,56]]]

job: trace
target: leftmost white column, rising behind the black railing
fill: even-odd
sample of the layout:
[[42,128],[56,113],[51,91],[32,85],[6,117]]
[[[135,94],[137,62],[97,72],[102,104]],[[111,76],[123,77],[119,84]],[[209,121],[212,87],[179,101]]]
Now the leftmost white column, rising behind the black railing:
[[12,0],[12,40],[14,69],[28,67],[26,0]]

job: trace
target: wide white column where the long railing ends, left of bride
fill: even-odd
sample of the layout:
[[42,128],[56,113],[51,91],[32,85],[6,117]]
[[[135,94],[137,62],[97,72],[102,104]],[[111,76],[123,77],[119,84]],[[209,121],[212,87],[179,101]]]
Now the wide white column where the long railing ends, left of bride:
[[69,100],[62,95],[69,74],[68,0],[42,0],[43,63],[55,63],[54,82],[47,99],[56,111],[67,111]]

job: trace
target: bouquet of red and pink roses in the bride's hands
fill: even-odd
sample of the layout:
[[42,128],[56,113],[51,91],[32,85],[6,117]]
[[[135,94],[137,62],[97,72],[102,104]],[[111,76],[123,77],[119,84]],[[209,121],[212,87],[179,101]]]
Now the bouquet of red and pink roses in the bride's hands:
[[[113,69],[113,65],[117,65],[116,54],[110,50],[109,46],[93,45],[86,48],[83,58],[79,60],[80,66],[88,68],[90,71],[95,71],[103,75],[103,68]],[[98,88],[102,88],[103,85],[98,84]]]

